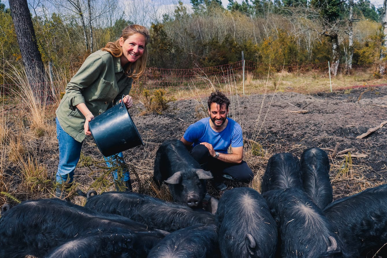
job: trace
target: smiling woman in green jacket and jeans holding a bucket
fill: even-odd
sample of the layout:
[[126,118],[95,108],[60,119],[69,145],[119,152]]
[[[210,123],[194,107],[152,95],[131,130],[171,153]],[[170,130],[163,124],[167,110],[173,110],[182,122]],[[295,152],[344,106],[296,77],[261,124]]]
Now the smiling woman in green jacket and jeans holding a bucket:
[[[132,107],[129,91],[133,79],[138,79],[146,68],[148,41],[149,31],[144,26],[127,26],[118,40],[108,42],[104,48],[89,55],[67,84],[56,111],[59,144],[57,197],[65,198],[66,186],[73,181],[82,142],[86,136],[91,136],[89,122],[121,101],[126,108]],[[105,157],[105,160],[108,167],[125,163],[122,153]],[[120,189],[123,181],[127,191],[131,191],[128,171],[124,170],[122,174],[123,178],[119,178],[118,169],[113,172],[116,189]]]

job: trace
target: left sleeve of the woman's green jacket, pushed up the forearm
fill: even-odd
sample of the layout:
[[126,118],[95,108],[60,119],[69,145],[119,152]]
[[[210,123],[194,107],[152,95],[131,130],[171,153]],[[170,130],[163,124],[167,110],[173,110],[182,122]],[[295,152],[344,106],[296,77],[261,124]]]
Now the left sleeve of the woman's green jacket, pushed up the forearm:
[[86,58],[78,72],[66,86],[65,91],[70,107],[75,107],[79,103],[85,103],[82,89],[94,83],[104,70],[106,70],[106,62],[100,55],[91,54]]

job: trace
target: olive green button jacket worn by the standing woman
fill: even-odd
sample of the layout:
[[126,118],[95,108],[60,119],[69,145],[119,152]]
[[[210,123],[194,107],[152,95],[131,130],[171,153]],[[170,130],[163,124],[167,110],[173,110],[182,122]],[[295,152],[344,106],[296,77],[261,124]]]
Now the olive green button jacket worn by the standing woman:
[[132,81],[124,74],[119,57],[101,50],[92,53],[66,86],[56,111],[60,126],[82,142],[85,117],[75,106],[85,103],[94,116],[100,115],[129,94]]

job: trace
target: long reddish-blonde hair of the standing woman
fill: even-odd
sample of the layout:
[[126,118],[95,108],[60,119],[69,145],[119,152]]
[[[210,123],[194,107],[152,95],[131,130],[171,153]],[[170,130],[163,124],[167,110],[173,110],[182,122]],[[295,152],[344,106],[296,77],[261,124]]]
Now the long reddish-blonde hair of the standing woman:
[[[134,63],[129,63],[125,71],[128,74],[128,77],[132,77],[134,80],[138,79],[146,69],[146,58],[148,56],[146,45],[150,38],[149,31],[144,26],[132,24],[125,27],[125,29],[122,30],[122,35],[120,36],[120,38],[123,38],[125,41],[127,38],[137,33],[142,34],[145,37],[144,53]],[[101,48],[101,50],[111,53],[114,57],[121,57],[123,52],[122,46],[120,46],[120,38],[115,42],[106,43],[105,47]]]

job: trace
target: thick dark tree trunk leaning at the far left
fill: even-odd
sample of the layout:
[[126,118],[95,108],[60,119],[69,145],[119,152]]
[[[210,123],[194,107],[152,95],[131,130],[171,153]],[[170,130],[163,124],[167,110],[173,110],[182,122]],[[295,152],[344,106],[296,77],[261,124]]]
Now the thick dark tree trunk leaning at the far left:
[[45,67],[36,43],[27,0],[9,0],[9,7],[28,82],[34,96],[43,101],[42,93],[46,90]]

